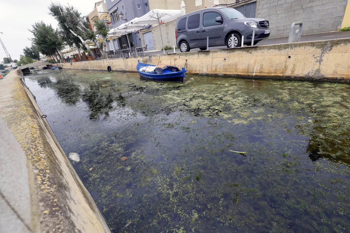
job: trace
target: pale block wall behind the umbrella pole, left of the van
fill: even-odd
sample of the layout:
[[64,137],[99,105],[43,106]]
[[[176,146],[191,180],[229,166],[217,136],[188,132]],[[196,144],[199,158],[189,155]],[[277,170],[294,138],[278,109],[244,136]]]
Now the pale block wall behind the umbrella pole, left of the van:
[[[164,46],[170,46],[173,48],[173,45],[176,47],[175,25],[176,20],[169,23],[160,24],[160,26],[157,25],[149,30],[141,31],[141,34],[152,30],[154,49],[161,50],[163,48],[159,31],[159,27],[161,27]],[[141,40],[142,44],[145,45],[143,35],[141,36]]]

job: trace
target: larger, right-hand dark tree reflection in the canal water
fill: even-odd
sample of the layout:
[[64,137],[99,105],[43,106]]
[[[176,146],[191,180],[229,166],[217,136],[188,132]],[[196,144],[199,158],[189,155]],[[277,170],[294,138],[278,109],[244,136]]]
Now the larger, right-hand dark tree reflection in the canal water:
[[[104,118],[109,116],[114,101],[113,93],[116,91],[113,87],[114,83],[98,81],[90,83],[90,86],[83,90],[82,99],[91,111],[90,119],[97,119],[103,114]],[[125,106],[125,99],[120,93],[115,100],[123,107]]]

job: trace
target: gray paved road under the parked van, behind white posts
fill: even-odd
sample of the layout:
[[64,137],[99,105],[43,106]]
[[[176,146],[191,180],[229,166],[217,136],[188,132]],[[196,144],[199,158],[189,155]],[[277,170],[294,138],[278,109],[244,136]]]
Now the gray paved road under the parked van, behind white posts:
[[[308,34],[308,35],[301,35],[301,42],[305,41],[322,41],[326,39],[342,39],[342,38],[350,38],[350,31],[335,31],[335,32],[324,32],[324,33],[317,33],[317,34]],[[278,37],[278,38],[270,38],[270,39],[264,39],[260,42],[258,42],[257,45],[266,45],[266,44],[283,44],[288,43],[288,37]],[[246,45],[245,45],[246,46]],[[209,50],[215,50],[215,49],[226,49],[226,46],[218,46],[218,47],[210,47]],[[199,51],[200,49],[191,49],[190,51]],[[180,52],[180,49],[175,49],[176,53]],[[153,51],[148,52],[146,55],[156,55],[156,54],[162,54],[163,51]],[[166,50],[165,53],[174,53],[174,49]]]

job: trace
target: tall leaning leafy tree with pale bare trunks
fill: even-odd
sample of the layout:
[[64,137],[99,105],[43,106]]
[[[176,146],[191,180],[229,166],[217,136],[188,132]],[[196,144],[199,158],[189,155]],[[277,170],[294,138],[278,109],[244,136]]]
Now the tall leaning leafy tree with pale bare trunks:
[[[84,45],[86,49],[90,49],[89,45],[85,43],[86,39],[91,39],[91,41],[100,48],[100,45],[96,41],[96,35],[93,31],[87,27],[88,23],[83,22],[80,17],[80,13],[74,7],[64,7],[59,3],[51,2],[49,6],[49,14],[52,15],[58,22],[59,27],[68,34],[68,31],[80,40],[80,43],[75,43],[75,45]],[[90,52],[91,56],[94,54]]]

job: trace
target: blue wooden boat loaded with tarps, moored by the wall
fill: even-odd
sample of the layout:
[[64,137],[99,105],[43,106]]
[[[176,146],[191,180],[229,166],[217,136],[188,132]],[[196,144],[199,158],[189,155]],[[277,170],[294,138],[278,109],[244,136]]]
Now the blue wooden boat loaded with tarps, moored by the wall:
[[139,63],[136,66],[137,72],[140,74],[141,79],[152,80],[152,81],[170,81],[170,82],[184,82],[185,80],[185,67],[182,67],[181,71],[173,72],[168,69],[163,70],[162,74],[156,74],[154,71],[152,73],[142,72],[140,69],[145,66],[155,66],[146,63]]

